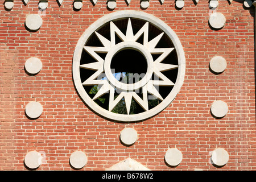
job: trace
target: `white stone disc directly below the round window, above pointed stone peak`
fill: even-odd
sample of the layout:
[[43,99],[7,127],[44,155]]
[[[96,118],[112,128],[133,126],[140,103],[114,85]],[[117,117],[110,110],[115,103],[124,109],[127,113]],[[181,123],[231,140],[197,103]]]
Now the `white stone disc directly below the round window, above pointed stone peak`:
[[127,145],[134,144],[138,139],[137,131],[132,128],[123,129],[120,133],[120,139]]

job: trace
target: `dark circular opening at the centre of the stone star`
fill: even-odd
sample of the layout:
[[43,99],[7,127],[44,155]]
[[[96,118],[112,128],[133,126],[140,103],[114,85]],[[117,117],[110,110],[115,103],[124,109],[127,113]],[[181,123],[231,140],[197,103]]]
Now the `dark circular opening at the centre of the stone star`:
[[110,68],[118,81],[134,84],[146,75],[147,61],[141,52],[123,49],[113,56]]

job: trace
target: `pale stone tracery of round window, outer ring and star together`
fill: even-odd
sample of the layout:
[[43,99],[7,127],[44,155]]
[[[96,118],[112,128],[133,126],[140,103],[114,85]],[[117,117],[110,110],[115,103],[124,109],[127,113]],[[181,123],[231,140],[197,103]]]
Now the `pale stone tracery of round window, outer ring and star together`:
[[[122,19],[128,19],[127,23],[127,31],[126,35],[123,35],[122,32],[114,25],[112,21],[115,20],[122,20]],[[131,20],[130,19],[138,19],[143,20],[146,22],[144,26],[137,32],[136,35],[133,35],[133,28],[131,26]],[[112,39],[114,39],[114,36],[111,36],[111,41],[104,38],[104,36],[101,36],[97,33],[98,30],[100,30],[101,27],[104,27],[106,23],[110,23],[110,28],[113,28],[114,34],[118,34],[119,38],[123,39],[123,42],[114,44]],[[148,34],[148,24],[151,24],[152,26],[158,28],[160,31],[162,31],[162,34],[159,36],[156,36],[154,39],[152,39],[150,42],[147,41],[147,34]],[[147,30],[146,28],[147,27]],[[142,32],[141,32],[142,31]],[[112,34],[111,33],[111,34]],[[144,33],[144,44],[139,44],[135,41],[135,37],[138,39],[138,36],[142,35]],[[101,41],[102,45],[104,47],[89,47],[86,46],[86,43],[88,42],[88,39],[90,39],[90,36],[92,34],[97,35],[97,38]],[[139,34],[139,35],[138,35]],[[155,48],[158,41],[161,39],[161,37],[165,34],[165,36],[170,39],[172,42],[173,48]],[[134,40],[133,40],[134,39]],[[146,41],[145,41],[146,39]],[[133,40],[133,41],[130,41]],[[118,46],[117,46],[118,45]],[[153,45],[153,46],[152,46]],[[85,65],[81,65],[81,56],[83,50],[86,49],[86,51],[93,56],[93,58],[96,60],[96,63],[89,63]],[[112,58],[114,55],[116,55],[118,52],[123,51],[125,49],[134,49],[135,51],[138,51],[141,53],[147,63],[147,71],[146,75],[142,78],[142,80],[135,82],[134,84],[125,84],[123,82],[119,82],[115,77],[113,76],[113,73],[110,69],[110,63],[112,61]],[[176,51],[176,57],[177,57],[177,65],[172,64],[162,64],[160,63],[165,57],[173,50]],[[96,52],[105,52],[106,57],[105,60],[102,60],[101,57],[97,55]],[[152,60],[151,53],[159,53],[161,52],[162,55],[159,56],[159,59],[156,59],[155,61]],[[165,56],[165,57],[164,57]],[[166,67],[169,69],[176,69],[177,68],[177,75],[176,75],[176,81],[175,84],[168,80],[160,71],[163,71]],[[85,82],[81,81],[81,75],[80,75],[80,69],[86,68],[86,69],[93,69],[96,71],[98,75],[102,73],[103,71],[106,74],[107,80],[94,80],[94,82],[97,85],[102,85],[101,89],[98,90],[98,93],[94,98],[97,98],[98,96],[101,96],[102,94],[108,92],[113,92],[114,88],[118,88],[121,90],[126,90],[125,93],[119,94],[117,98],[115,98],[112,94],[110,94],[110,100],[109,105],[113,105],[113,102],[117,102],[118,98],[120,100],[121,97],[125,98],[126,103],[126,109],[130,109],[130,102],[127,102],[128,100],[131,100],[133,97],[136,101],[138,101],[138,104],[140,104],[144,111],[138,114],[119,114],[119,113],[113,113],[110,109],[105,109],[101,107],[100,105],[96,104],[94,102],[94,98],[90,97],[89,94],[85,91],[84,86],[86,85],[86,81],[89,84],[93,85],[92,79],[96,78],[98,75],[93,74],[88,80]],[[162,77],[162,84],[164,86],[172,86],[171,92],[168,93],[168,95],[165,98],[162,98],[160,94],[155,89],[152,89],[154,87],[154,81],[150,80],[150,77],[152,76],[152,73],[155,72],[156,75],[159,77]],[[90,109],[95,111],[97,114],[101,115],[102,117],[112,119],[117,122],[137,122],[137,121],[143,121],[148,118],[153,117],[154,115],[160,113],[162,110],[166,109],[167,106],[171,104],[171,102],[176,97],[177,93],[179,92],[181,86],[183,85],[184,76],[185,76],[185,55],[183,51],[183,47],[180,43],[179,38],[175,34],[174,31],[162,20],[159,18],[156,18],[154,15],[147,14],[141,11],[116,11],[114,13],[107,14],[105,16],[102,16],[102,18],[96,20],[91,26],[89,26],[84,34],[82,34],[81,38],[77,42],[77,46],[75,48],[75,52],[73,54],[73,63],[72,63],[72,76],[73,76],[73,82],[75,84],[76,90],[79,93],[80,97],[86,105],[89,106]],[[166,80],[165,80],[166,79]],[[90,82],[91,81],[91,82]],[[107,84],[108,82],[108,84]],[[150,84],[148,84],[150,83]],[[152,86],[151,86],[152,85]],[[148,86],[148,89],[143,89]],[[151,86],[151,88],[150,88]],[[134,89],[142,88],[143,93],[144,92],[151,92],[155,97],[158,97],[161,102],[160,104],[156,105],[155,107],[152,107],[151,109],[148,109],[148,102],[146,101],[146,98],[143,98],[137,96],[137,94],[130,92]],[[145,91],[146,90],[146,91]],[[129,104],[128,104],[129,103]],[[145,104],[146,103],[146,104]],[[116,103],[115,103],[116,104]],[[111,106],[110,106],[111,107]],[[111,107],[113,108],[114,105]],[[127,109],[128,110],[128,109]]]

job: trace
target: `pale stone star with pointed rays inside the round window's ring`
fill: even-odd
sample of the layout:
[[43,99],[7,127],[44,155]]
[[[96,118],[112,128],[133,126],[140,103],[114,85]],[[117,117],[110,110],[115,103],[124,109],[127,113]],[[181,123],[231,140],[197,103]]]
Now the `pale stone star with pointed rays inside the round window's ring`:
[[[145,110],[148,110],[148,96],[147,93],[152,94],[152,96],[163,101],[163,97],[160,95],[155,86],[174,86],[174,82],[169,80],[166,76],[163,75],[163,71],[170,69],[178,68],[178,65],[173,64],[164,64],[161,63],[173,50],[173,47],[170,48],[155,48],[159,40],[164,35],[164,32],[156,36],[154,39],[148,41],[148,22],[146,22],[143,27],[134,35],[133,26],[129,18],[126,34],[123,34],[121,30],[113,22],[110,22],[110,40],[106,39],[104,36],[98,34],[95,31],[95,34],[102,43],[104,47],[90,47],[84,46],[86,52],[92,56],[96,62],[89,64],[82,64],[80,68],[92,69],[96,71],[92,76],[87,80],[82,82],[82,85],[100,85],[101,88],[98,90],[96,95],[92,100],[96,100],[105,93],[109,94],[109,111],[113,110],[114,107],[118,104],[119,101],[124,98],[125,105],[127,109],[127,114],[130,112],[131,100],[134,100]],[[115,44],[115,35],[117,35],[122,42]],[[136,42],[141,36],[143,36],[143,44]],[[146,75],[139,82],[134,84],[125,84],[119,82],[113,76],[113,73],[110,69],[110,63],[112,57],[118,51],[122,49],[135,49],[141,52],[147,61],[147,72]],[[105,59],[102,59],[97,53],[107,53]],[[151,54],[160,55],[155,61],[152,59]],[[97,79],[102,73],[106,74],[105,80]],[[152,74],[155,74],[160,79],[151,80]],[[122,90],[122,92],[114,99],[115,88]],[[142,89],[143,97],[139,97],[134,90]]]

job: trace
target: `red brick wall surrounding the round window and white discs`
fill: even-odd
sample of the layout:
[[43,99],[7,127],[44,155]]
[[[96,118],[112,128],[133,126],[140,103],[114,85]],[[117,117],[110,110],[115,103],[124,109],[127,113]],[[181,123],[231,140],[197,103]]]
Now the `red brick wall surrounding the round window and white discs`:
[[[175,100],[162,113],[147,121],[118,123],[94,114],[81,101],[72,81],[72,56],[77,40],[95,20],[112,13],[106,1],[96,6],[83,1],[73,11],[72,1],[59,7],[49,0],[39,31],[24,27],[27,14],[38,13],[38,1],[27,6],[14,1],[6,11],[0,6],[0,170],[27,170],[27,152],[44,154],[38,170],[73,170],[69,156],[82,150],[88,163],[81,170],[104,170],[128,157],[151,170],[255,170],[255,61],[254,7],[245,9],[243,1],[220,0],[217,11],[226,17],[221,30],[212,30],[208,1],[185,1],[181,10],[174,1],[150,1],[142,10],[139,1],[117,1],[119,10],[138,10],[162,19],[175,31],[184,47],[186,73]],[[225,57],[225,72],[209,70],[213,56]],[[38,75],[24,71],[30,57],[43,63]],[[213,118],[210,106],[222,100],[229,106],[222,119]],[[28,102],[43,105],[38,119],[28,119]],[[134,127],[138,140],[130,147],[119,140],[120,131]],[[179,166],[164,163],[168,148],[183,154]],[[224,148],[229,162],[221,168],[210,163],[210,152]]]

